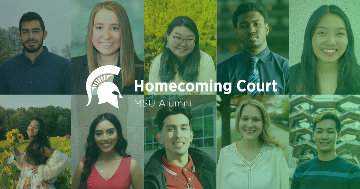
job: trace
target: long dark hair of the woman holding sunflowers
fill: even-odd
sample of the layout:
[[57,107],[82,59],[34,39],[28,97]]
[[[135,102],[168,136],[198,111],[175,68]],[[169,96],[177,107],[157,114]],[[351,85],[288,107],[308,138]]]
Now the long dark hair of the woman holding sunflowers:
[[[39,123],[39,130],[34,138],[30,141],[29,145],[25,149],[25,160],[35,165],[45,164],[49,158],[44,156],[44,147],[51,149],[50,141],[46,132],[44,121],[40,117],[35,117],[32,121]],[[27,131],[26,131],[27,132]]]

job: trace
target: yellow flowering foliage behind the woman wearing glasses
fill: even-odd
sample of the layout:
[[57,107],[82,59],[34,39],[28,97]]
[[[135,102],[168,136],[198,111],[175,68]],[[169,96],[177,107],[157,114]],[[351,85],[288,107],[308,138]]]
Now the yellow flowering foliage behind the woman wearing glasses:
[[177,16],[193,19],[199,32],[200,50],[209,54],[216,65],[215,0],[144,0],[144,84],[149,81],[153,59],[162,53],[167,27]]

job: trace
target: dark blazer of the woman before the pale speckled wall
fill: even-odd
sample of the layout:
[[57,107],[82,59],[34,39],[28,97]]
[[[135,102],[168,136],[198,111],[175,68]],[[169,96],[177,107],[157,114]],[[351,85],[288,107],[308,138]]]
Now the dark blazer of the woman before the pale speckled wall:
[[[297,63],[290,67],[290,94],[291,95],[297,95],[297,94],[304,94],[304,93],[298,93],[296,92],[296,85],[299,81],[299,78],[302,77],[302,69],[301,69],[301,63]],[[341,88],[340,82],[338,80],[337,82],[337,88],[335,90],[334,94],[346,94],[346,92]],[[314,94],[306,94],[306,95],[314,95]]]

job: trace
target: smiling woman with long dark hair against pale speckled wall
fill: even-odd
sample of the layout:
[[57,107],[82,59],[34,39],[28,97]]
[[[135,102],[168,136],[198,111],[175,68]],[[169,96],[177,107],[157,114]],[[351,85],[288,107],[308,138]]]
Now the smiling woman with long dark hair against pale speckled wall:
[[301,63],[290,67],[290,94],[360,94],[360,68],[346,14],[323,5],[307,23]]

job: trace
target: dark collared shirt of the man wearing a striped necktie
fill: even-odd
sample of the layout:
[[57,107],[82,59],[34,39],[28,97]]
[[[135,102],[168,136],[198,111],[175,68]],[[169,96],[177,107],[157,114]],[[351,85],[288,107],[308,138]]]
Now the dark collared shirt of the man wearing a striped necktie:
[[[271,52],[269,47],[266,47],[256,56],[259,58],[256,67],[259,71],[260,82],[264,83],[265,87],[265,92],[261,91],[260,94],[289,94],[289,60]],[[237,84],[239,80],[245,80],[246,82],[240,84],[240,89],[247,89],[252,68],[251,57],[251,54],[243,50],[241,53],[217,64],[217,82],[222,85],[225,82],[231,82],[230,94],[247,94],[247,90],[239,91]],[[272,83],[273,80],[277,83],[276,92],[273,91],[272,85],[266,92],[266,83]],[[222,87],[221,92],[219,92],[218,87],[217,91],[217,94],[224,94],[224,87]]]

